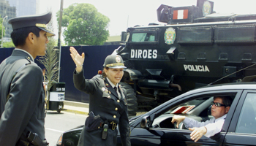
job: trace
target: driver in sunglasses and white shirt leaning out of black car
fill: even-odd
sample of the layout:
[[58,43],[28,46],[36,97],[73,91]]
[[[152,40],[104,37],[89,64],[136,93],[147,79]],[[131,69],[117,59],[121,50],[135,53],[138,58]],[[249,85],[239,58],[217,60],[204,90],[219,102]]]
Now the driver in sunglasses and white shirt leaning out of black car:
[[211,115],[214,118],[206,120],[205,122],[198,122],[197,120],[187,118],[181,115],[174,115],[172,123],[178,124],[183,122],[192,133],[190,138],[197,142],[203,135],[206,137],[214,136],[222,130],[223,123],[227,117],[227,112],[230,110],[230,105],[233,99],[230,96],[214,96],[214,101],[211,102]]

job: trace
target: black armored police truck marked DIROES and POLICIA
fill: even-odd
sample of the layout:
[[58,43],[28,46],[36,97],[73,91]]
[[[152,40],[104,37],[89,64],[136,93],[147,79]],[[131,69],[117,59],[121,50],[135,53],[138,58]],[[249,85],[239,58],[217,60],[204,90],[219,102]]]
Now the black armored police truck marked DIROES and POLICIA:
[[127,29],[116,51],[127,69],[129,115],[204,85],[253,81],[256,74],[256,15],[220,15],[214,2],[161,5],[150,23]]

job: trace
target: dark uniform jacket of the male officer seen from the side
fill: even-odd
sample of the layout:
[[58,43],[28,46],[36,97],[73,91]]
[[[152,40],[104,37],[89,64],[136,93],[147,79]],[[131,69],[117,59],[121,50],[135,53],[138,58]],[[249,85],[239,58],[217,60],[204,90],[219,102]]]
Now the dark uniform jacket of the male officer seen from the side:
[[22,50],[13,50],[12,55],[0,64],[0,145],[12,146],[18,139],[26,140],[28,131],[45,139],[42,81],[42,69]]

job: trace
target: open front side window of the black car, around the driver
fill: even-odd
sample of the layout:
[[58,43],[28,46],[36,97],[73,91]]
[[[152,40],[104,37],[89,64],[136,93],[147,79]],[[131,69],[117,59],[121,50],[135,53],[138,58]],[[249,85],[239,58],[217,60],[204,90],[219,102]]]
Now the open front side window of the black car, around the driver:
[[[184,115],[187,118],[192,118],[198,122],[204,122],[213,118],[211,115],[211,102],[214,101],[214,96],[230,96],[235,98],[236,93],[218,93],[217,95],[195,96],[189,99],[184,99],[178,104],[169,107],[167,112],[154,118],[153,128],[175,128],[175,124],[171,123],[174,115]],[[179,129],[187,129],[183,123],[180,123]]]

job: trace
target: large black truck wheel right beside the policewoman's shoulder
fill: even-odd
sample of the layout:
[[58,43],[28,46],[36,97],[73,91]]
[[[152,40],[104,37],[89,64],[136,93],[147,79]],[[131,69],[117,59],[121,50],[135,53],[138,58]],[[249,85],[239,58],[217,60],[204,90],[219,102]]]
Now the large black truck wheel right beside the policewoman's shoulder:
[[135,90],[125,82],[119,82],[119,84],[127,90],[128,115],[136,115],[138,103]]

